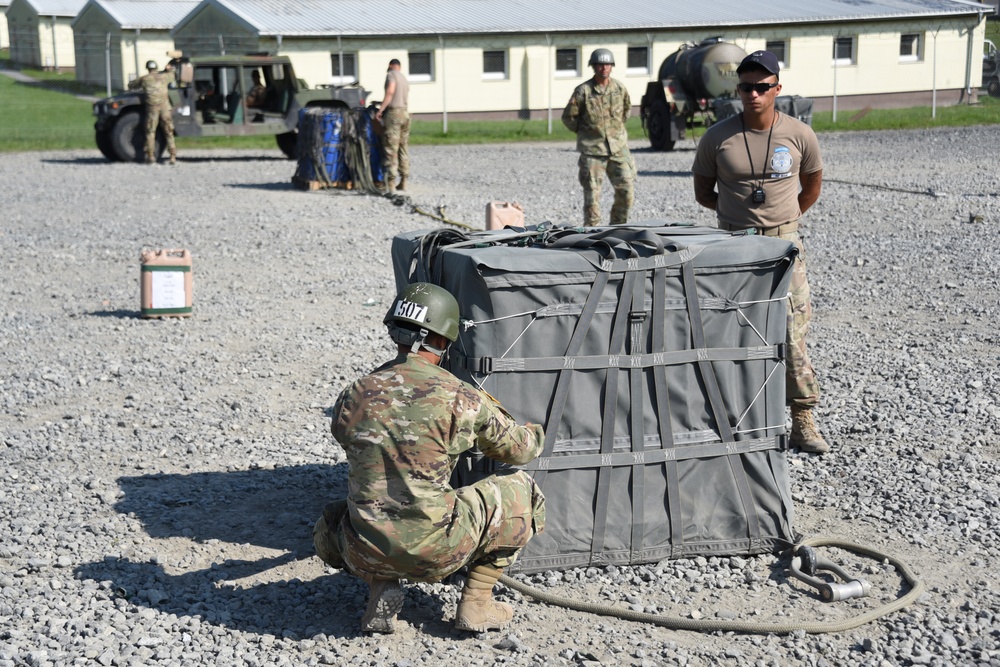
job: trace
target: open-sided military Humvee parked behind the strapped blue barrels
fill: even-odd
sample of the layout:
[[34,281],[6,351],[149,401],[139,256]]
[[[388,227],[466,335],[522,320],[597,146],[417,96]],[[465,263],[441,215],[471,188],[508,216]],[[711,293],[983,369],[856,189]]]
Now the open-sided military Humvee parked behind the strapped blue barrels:
[[[299,111],[305,107],[363,107],[368,91],[357,85],[310,89],[297,79],[287,56],[238,55],[175,58],[170,85],[174,135],[231,137],[274,135],[278,148],[295,157]],[[247,105],[253,72],[265,87],[263,100]],[[125,91],[94,103],[97,147],[114,162],[142,162],[145,143],[143,93]],[[163,153],[162,128],[155,156]]]

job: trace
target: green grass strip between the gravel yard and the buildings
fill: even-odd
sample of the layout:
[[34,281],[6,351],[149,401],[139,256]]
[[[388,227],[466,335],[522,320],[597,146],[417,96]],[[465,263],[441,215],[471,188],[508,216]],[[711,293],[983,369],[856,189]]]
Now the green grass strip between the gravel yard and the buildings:
[[[1000,21],[987,25],[987,35],[993,34],[1000,44]],[[6,50],[0,51],[0,68],[10,68]],[[94,117],[91,103],[74,95],[104,95],[102,89],[82,86],[69,74],[24,70],[24,74],[39,79],[37,84],[24,84],[0,75],[0,151],[40,151],[61,149],[94,149]],[[1000,99],[980,96],[976,106],[939,106],[936,117],[930,107],[910,109],[873,109],[868,112],[839,110],[837,122],[831,112],[813,114],[817,132],[850,130],[920,129],[930,127],[961,127],[1000,123]],[[520,141],[572,141],[573,135],[563,127],[558,111],[553,111],[552,134],[548,121],[461,121],[449,120],[448,133],[442,132],[438,121],[413,121],[411,143],[482,144]],[[638,118],[628,124],[629,136],[643,137]],[[695,137],[703,132],[696,126]],[[272,136],[212,137],[205,139],[178,138],[180,149],[188,148],[275,148]]]

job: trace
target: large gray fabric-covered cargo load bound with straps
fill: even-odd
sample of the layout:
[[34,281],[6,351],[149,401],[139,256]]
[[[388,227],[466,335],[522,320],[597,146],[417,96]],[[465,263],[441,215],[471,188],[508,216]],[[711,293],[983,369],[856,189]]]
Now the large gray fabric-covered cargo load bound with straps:
[[[430,281],[458,299],[448,367],[545,426],[544,453],[523,468],[545,494],[546,529],[514,570],[791,546],[795,252],[662,221],[395,237],[399,288]],[[468,457],[453,484],[501,468]]]

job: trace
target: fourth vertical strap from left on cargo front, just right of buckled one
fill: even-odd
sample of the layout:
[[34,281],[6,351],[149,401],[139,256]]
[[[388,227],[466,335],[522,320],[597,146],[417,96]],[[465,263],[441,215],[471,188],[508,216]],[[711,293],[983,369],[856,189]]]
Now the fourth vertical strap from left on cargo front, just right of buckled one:
[[[653,335],[654,352],[666,352],[666,269],[658,269],[653,274]],[[670,417],[670,391],[667,385],[667,369],[665,366],[653,368],[653,388],[656,392],[656,411],[659,416],[660,448],[673,453],[674,428]],[[667,482],[667,512],[670,516],[670,548],[671,553],[679,550],[684,544],[684,523],[681,515],[681,482],[677,472],[677,459],[673,456],[665,459],[663,466]]]

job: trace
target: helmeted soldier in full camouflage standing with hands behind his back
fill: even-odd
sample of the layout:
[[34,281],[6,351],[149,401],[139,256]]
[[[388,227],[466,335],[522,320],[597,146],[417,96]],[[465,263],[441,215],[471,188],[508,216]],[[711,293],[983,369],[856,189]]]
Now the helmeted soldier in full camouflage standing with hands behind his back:
[[583,224],[601,224],[601,183],[604,174],[615,188],[611,224],[624,225],[635,198],[635,161],[628,150],[625,123],[632,99],[620,81],[611,78],[615,57],[608,49],[590,55],[594,77],[573,91],[563,111],[563,124],[576,134],[583,186]]

